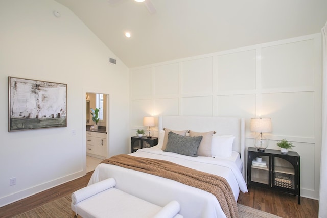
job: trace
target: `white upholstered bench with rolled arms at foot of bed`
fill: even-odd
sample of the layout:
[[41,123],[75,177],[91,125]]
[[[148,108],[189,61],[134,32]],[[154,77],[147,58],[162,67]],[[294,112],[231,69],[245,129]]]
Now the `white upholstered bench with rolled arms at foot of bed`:
[[72,193],[73,217],[133,217],[180,218],[180,205],[171,201],[160,207],[114,188],[116,181],[109,178]]

